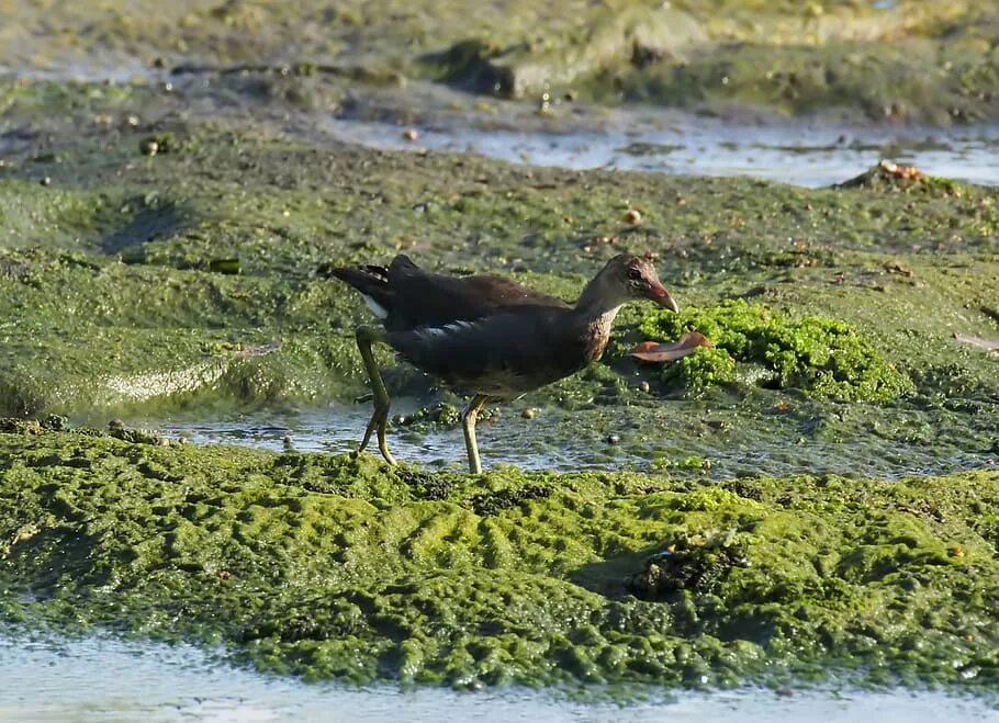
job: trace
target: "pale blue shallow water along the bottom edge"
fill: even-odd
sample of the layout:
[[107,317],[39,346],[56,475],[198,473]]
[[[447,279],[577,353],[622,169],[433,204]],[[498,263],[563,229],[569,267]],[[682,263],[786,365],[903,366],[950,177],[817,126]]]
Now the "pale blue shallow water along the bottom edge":
[[[454,692],[306,685],[213,660],[188,645],[109,636],[47,639],[0,634],[0,720],[49,721],[826,721],[880,723],[999,721],[997,701],[938,691],[742,688],[653,690],[628,704],[581,702],[523,688]],[[590,691],[591,693],[593,691]]]

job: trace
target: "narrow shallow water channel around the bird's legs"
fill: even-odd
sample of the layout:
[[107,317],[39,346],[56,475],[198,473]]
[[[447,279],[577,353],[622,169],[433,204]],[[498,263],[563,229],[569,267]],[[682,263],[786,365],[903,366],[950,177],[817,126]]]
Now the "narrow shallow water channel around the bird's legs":
[[[393,414],[412,414],[417,406],[415,399],[403,398],[394,404]],[[662,421],[651,431],[630,420],[627,413],[622,416],[613,408],[571,414],[546,408],[534,419],[523,419],[518,407],[487,408],[497,409],[498,414],[492,419],[480,420],[478,426],[483,464],[486,468],[513,464],[523,470],[562,472],[665,467],[674,476],[705,476],[703,470],[676,466],[683,459],[703,456],[710,460],[709,475],[715,478],[755,476],[761,471],[771,475],[855,475],[862,472],[865,476],[890,478],[973,468],[999,470],[999,454],[988,450],[955,449],[942,455],[939,449],[919,440],[906,443],[893,437],[799,439],[799,422],[790,418],[773,419],[774,440],[725,443],[717,437],[706,437],[697,429],[683,427],[685,419],[698,420],[705,416],[705,409],[698,403],[670,400],[663,403],[663,408]],[[707,417],[732,416],[733,411],[716,409],[708,411]],[[130,427],[150,429],[198,444],[340,454],[357,449],[369,415],[368,405],[332,405],[323,409],[260,411],[232,417],[131,418],[125,421]],[[738,423],[738,416],[733,419]],[[610,441],[611,437],[615,441]],[[798,442],[786,443],[786,440],[795,439]],[[390,425],[389,447],[401,461],[431,468],[465,470],[464,438],[460,428],[433,427],[420,432]],[[373,444],[369,451],[378,453]]]

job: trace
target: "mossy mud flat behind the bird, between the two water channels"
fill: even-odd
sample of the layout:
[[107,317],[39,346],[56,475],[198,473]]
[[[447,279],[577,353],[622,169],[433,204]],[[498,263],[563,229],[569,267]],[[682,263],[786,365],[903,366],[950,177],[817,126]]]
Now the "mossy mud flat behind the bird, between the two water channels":
[[[997,334],[992,189],[882,172],[805,190],[526,168],[291,135],[269,120],[281,100],[248,124],[203,118],[183,110],[189,95],[145,84],[8,88],[8,127],[38,131],[18,134],[0,169],[4,414],[99,421],[348,402],[366,391],[352,331],[369,316],[314,275],[321,263],[403,250],[431,269],[509,273],[572,298],[632,249],[658,255],[684,308],[742,297],[775,317],[849,325],[913,391],[844,406],[804,399],[800,381],[765,389],[743,379],[696,405],[664,405],[660,371],[626,358],[643,338],[648,309],[636,306],[603,364],[520,403],[545,409],[525,433],[639,466],[695,455],[716,476],[760,459],[772,473],[828,470],[813,443],[849,444],[851,468],[885,474],[898,474],[888,457],[943,472],[996,453],[995,359],[953,339]],[[166,134],[169,152],[144,155]],[[622,221],[628,208],[640,225]],[[460,404],[433,380],[389,379],[395,395]]]

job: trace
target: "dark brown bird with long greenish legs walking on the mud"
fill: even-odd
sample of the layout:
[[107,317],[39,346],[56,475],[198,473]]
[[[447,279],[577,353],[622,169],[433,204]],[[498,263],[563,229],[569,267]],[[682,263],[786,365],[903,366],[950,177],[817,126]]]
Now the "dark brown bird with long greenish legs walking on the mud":
[[573,304],[503,276],[431,273],[402,253],[388,267],[326,264],[318,273],[352,286],[381,321],[355,334],[374,400],[357,453],[374,433],[382,456],[395,464],[385,438],[391,402],[371,350],[384,343],[422,372],[471,395],[461,425],[473,474],[482,473],[475,422],[486,402],[518,398],[598,360],[615,317],[629,302],[680,310],[648,255],[615,256]]

